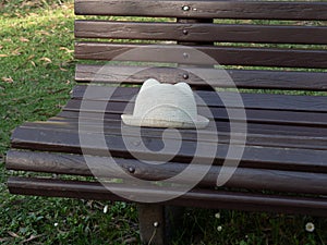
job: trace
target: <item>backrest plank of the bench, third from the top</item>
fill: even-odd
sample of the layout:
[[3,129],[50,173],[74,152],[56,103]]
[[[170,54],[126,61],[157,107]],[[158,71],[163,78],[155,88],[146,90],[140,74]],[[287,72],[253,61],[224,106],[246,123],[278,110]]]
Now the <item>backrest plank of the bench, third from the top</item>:
[[[199,57],[199,53],[203,57]],[[193,59],[190,59],[190,58]],[[211,59],[209,59],[209,57]],[[75,58],[195,65],[327,68],[327,50],[76,42]],[[195,59],[196,58],[196,59]]]

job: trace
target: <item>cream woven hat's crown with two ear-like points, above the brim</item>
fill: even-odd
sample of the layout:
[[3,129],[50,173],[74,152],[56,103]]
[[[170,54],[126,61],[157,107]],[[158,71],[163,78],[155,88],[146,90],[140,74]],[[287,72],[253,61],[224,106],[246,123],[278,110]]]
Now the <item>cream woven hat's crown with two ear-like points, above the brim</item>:
[[160,84],[147,79],[135,100],[134,117],[142,119],[195,121],[196,102],[186,83]]

